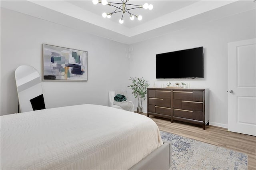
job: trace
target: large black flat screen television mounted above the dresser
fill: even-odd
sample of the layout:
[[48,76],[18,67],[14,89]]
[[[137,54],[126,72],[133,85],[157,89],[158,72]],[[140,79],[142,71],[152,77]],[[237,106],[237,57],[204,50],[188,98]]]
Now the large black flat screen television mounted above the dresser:
[[203,47],[156,54],[156,79],[204,78]]

